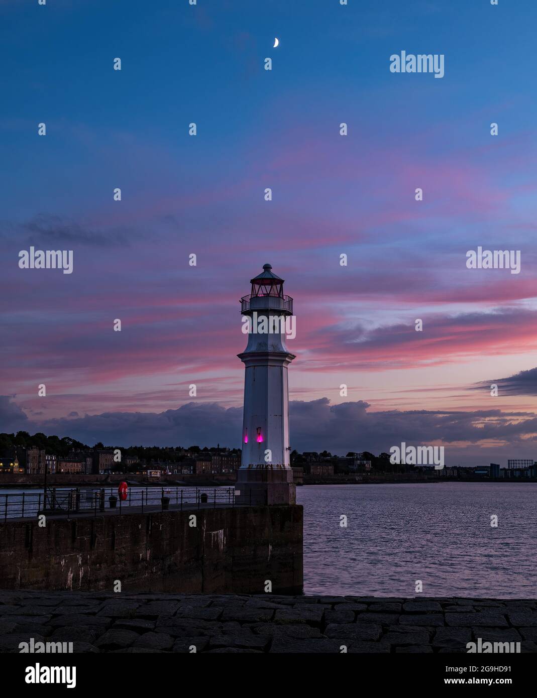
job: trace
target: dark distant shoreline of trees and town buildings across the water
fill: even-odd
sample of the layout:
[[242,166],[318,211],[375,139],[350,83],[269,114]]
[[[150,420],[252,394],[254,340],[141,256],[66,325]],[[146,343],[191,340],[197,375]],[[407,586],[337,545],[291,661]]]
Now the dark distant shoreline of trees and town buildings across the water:
[[[25,440],[35,439],[39,445],[14,445],[14,435],[0,437],[0,475],[22,474],[44,475],[108,475],[111,473],[135,473],[146,477],[167,477],[192,475],[213,477],[233,475],[240,468],[241,450],[216,447],[191,446],[175,447],[130,447],[119,449],[105,448],[103,444],[89,448],[70,438],[45,437],[36,434],[31,437],[24,433]],[[37,438],[38,437],[38,438]],[[47,441],[48,440],[48,441]],[[50,442],[52,441],[52,444]],[[7,445],[6,445],[7,444]],[[45,445],[45,447],[41,447]],[[71,447],[71,450],[69,450]],[[56,450],[56,453],[51,452]],[[311,481],[311,478],[334,478],[334,481],[350,478],[360,482],[364,477],[378,477],[390,480],[391,476],[438,477],[451,480],[537,480],[537,461],[533,459],[508,459],[507,467],[500,463],[487,466],[445,466],[436,470],[430,466],[401,465],[390,463],[390,456],[381,453],[375,456],[369,452],[348,452],[337,456],[328,451],[296,450],[290,454],[290,463],[295,474],[295,482]]]

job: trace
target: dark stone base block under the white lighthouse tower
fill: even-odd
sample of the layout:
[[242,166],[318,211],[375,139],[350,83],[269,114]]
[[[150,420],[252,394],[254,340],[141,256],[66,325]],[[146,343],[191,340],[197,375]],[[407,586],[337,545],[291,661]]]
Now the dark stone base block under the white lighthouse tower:
[[237,471],[235,502],[251,505],[296,504],[293,470],[269,463],[242,466]]

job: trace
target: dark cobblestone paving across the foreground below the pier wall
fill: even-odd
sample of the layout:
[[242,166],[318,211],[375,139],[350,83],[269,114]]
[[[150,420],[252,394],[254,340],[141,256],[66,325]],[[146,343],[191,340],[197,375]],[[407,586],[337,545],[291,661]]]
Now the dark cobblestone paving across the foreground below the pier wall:
[[75,652],[537,652],[537,602],[469,598],[0,591],[0,652],[20,642]]

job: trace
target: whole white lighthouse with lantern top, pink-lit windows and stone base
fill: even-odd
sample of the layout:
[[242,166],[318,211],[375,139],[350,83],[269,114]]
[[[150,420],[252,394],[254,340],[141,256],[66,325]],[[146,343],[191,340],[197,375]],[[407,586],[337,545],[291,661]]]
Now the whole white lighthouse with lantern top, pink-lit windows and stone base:
[[[294,504],[296,489],[289,465],[287,367],[295,358],[286,347],[284,322],[293,299],[270,264],[251,279],[251,294],[241,298],[249,318],[244,362],[242,464],[237,473],[240,503]],[[283,330],[283,331],[282,331]]]

